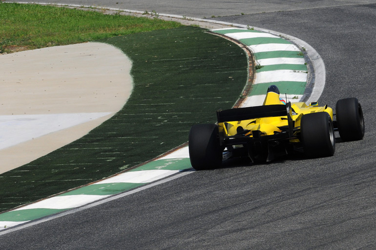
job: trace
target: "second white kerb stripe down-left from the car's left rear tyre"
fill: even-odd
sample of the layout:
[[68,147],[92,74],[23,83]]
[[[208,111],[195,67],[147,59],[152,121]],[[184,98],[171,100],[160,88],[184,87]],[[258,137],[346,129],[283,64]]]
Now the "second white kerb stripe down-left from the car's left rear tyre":
[[143,171],[130,171],[115,175],[104,179],[102,181],[96,182],[95,184],[104,184],[104,183],[149,183],[162,178],[165,178],[169,175],[178,173],[179,170],[143,170]]

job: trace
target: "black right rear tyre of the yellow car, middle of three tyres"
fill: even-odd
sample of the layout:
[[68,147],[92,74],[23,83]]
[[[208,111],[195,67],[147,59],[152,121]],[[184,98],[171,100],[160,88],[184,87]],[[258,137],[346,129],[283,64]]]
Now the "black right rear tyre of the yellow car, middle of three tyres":
[[332,156],[335,152],[333,122],[326,112],[303,115],[300,135],[304,154],[310,158]]

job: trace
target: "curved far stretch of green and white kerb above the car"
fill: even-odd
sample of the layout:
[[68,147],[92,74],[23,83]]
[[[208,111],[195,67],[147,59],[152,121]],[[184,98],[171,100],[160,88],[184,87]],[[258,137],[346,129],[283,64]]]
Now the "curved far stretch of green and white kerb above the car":
[[307,84],[307,65],[301,50],[279,36],[250,29],[225,28],[211,30],[236,39],[253,53],[257,70],[251,92],[243,107],[262,105],[266,91],[272,84],[279,88],[281,97],[299,101]]

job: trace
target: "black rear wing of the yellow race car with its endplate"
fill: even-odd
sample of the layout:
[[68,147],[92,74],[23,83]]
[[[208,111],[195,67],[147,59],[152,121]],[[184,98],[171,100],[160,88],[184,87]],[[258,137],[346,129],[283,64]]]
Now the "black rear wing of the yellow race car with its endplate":
[[262,117],[287,116],[289,123],[289,135],[292,137],[292,109],[291,102],[275,105],[263,105],[246,108],[236,108],[217,111],[218,123],[226,121],[242,121]]

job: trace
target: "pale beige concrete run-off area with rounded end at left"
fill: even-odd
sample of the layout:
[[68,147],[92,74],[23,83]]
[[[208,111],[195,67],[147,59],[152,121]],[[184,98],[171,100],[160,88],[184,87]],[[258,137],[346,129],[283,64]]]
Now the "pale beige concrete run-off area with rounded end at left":
[[0,64],[0,173],[87,134],[132,91],[130,60],[105,43],[0,55]]

